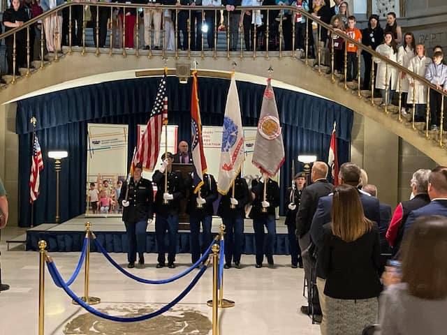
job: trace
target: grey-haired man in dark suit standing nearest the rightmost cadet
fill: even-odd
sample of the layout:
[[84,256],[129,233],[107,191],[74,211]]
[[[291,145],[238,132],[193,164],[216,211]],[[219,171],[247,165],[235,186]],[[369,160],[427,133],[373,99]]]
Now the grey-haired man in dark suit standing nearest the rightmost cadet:
[[[312,165],[310,178],[313,184],[307,186],[302,191],[300,207],[296,214],[296,238],[301,249],[302,264],[305,269],[307,283],[311,283],[311,274],[314,267],[314,260],[310,252],[312,218],[314,217],[318,200],[331,193],[334,187],[328,182],[328,165],[324,162],[317,161]],[[307,297],[311,297],[312,295],[309,294],[310,290],[312,290],[311,285],[307,285],[307,289],[309,290]],[[318,299],[309,301],[309,304],[313,305],[313,311],[319,311]],[[301,306],[301,312],[309,315],[309,306]]]

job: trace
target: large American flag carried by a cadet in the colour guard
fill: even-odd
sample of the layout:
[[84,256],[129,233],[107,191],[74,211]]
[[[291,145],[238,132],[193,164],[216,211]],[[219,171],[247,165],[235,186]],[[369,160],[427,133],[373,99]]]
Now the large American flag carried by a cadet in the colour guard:
[[161,129],[163,125],[168,124],[168,96],[166,95],[166,73],[161,77],[159,89],[156,94],[154,107],[145,132],[138,141],[138,149],[136,151],[133,164],[142,164],[145,170],[154,170],[156,161],[159,157]]

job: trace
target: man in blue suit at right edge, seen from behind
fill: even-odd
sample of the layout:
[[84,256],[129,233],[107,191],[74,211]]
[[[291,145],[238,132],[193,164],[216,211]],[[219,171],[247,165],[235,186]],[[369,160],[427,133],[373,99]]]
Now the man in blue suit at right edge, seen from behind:
[[438,166],[428,177],[428,195],[430,204],[411,211],[405,223],[405,232],[409,230],[416,218],[429,215],[447,216],[447,167]]

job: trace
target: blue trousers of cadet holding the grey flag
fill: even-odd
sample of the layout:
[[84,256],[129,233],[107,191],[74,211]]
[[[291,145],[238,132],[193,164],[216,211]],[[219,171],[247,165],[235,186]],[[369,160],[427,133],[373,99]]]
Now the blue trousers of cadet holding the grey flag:
[[263,264],[264,260],[264,226],[267,228],[267,241],[265,243],[265,255],[273,256],[274,237],[277,234],[277,225],[274,216],[261,216],[253,220],[254,239],[256,244],[256,264]]

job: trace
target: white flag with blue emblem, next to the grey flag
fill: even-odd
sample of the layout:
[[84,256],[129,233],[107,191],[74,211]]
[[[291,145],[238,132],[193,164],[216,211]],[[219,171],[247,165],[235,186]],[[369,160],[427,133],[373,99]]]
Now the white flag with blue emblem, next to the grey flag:
[[221,162],[217,182],[219,193],[223,195],[228,193],[240,172],[244,159],[244,129],[240,116],[239,94],[237,94],[236,80],[233,75],[223,117]]

